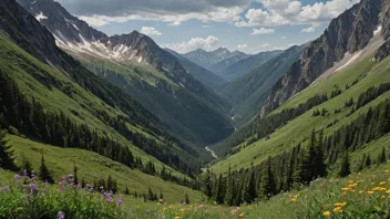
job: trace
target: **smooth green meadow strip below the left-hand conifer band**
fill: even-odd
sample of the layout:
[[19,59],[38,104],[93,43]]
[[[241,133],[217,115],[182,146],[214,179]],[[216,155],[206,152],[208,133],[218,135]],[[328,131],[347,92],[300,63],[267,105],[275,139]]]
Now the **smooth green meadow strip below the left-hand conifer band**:
[[120,163],[113,161],[99,154],[74,148],[60,148],[51,145],[44,145],[22,138],[14,135],[8,135],[9,144],[12,145],[17,164],[21,164],[24,155],[32,163],[33,169],[39,169],[41,155],[44,156],[47,166],[53,173],[54,180],[61,179],[62,176],[73,173],[74,161],[79,168],[80,179],[93,182],[101,178],[106,179],[112,176],[117,180],[119,190],[124,191],[125,187],[131,192],[147,194],[148,187],[160,195],[163,192],[164,198],[168,201],[179,201],[185,195],[192,200],[201,200],[199,191],[192,190],[187,187],[178,186],[170,181],[150,175],[145,175],[137,169],[131,169]]

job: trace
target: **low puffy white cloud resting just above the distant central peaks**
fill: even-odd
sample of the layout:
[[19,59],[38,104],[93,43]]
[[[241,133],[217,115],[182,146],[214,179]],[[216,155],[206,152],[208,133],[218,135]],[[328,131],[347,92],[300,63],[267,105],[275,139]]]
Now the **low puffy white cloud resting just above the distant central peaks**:
[[193,38],[187,42],[171,43],[171,44],[167,44],[166,46],[176,52],[186,53],[198,48],[202,48],[205,50],[213,50],[218,45],[218,43],[219,43],[218,38],[214,35],[209,35],[207,38]]

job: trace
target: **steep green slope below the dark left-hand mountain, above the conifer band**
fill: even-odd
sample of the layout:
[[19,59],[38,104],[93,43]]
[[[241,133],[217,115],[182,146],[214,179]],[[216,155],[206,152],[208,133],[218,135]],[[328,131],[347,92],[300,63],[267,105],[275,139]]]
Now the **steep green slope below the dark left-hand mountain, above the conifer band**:
[[[114,128],[105,125],[94,115],[95,111],[103,111],[113,117],[117,115],[124,116],[120,109],[106,105],[96,96],[73,83],[59,70],[54,70],[49,65],[39,62],[23,50],[11,43],[6,36],[0,35],[0,48],[2,49],[0,51],[0,66],[6,73],[16,80],[19,87],[27,96],[38,100],[48,111],[57,113],[63,112],[76,123],[86,123],[90,127],[95,128],[101,133],[107,133],[111,137],[115,138],[123,145],[129,145],[133,154],[141,157],[144,163],[152,160],[155,163],[157,169],[162,169],[163,164],[161,161],[132,145]],[[31,75],[35,75],[35,77]],[[42,83],[37,81],[37,77],[53,77],[58,80],[58,82],[62,84],[65,90],[71,91],[72,95],[66,95],[63,91],[55,87],[48,88]],[[133,124],[127,124],[127,126],[130,129],[133,129],[140,134],[145,135],[145,132],[148,132]],[[160,142],[160,137],[153,135],[153,133],[145,136]]]

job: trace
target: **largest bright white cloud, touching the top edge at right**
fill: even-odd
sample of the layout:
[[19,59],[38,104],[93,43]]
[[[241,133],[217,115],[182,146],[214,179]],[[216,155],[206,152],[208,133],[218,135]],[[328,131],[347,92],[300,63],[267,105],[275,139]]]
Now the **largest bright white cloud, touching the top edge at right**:
[[329,0],[301,6],[296,0],[259,0],[263,9],[249,9],[236,27],[275,27],[285,24],[312,24],[328,22],[359,0]]

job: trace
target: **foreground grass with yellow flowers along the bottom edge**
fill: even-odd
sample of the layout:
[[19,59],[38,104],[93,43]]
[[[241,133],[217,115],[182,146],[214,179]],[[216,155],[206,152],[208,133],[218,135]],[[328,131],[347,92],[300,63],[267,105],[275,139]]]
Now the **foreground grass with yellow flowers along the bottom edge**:
[[[83,212],[94,212],[98,207],[105,209],[107,212],[116,212],[117,217],[134,218],[134,219],[204,219],[204,218],[246,218],[246,219],[285,219],[285,218],[389,218],[390,211],[390,164],[387,163],[380,167],[372,167],[362,173],[355,173],[346,178],[327,178],[318,179],[311,182],[310,187],[304,187],[290,192],[285,192],[273,197],[268,201],[259,201],[252,206],[226,207],[213,204],[207,204],[202,200],[191,200],[189,205],[182,205],[178,202],[158,201],[158,202],[143,202],[131,196],[116,195],[123,197],[123,206],[117,208],[113,204],[103,204],[104,199],[99,199],[99,196],[93,197],[98,205],[93,206],[89,202],[89,197],[93,196],[83,191],[65,190],[73,196],[65,196],[58,194],[60,186],[52,186],[49,188],[50,196],[48,197],[68,197],[70,200],[80,202],[85,206]],[[14,179],[13,174],[0,169],[0,186],[12,186]],[[40,187],[40,186],[39,186]],[[60,187],[61,188],[61,187]],[[16,197],[10,192],[4,192],[0,196],[1,205],[0,213],[8,212],[9,206],[14,206]],[[19,191],[20,192],[20,191]],[[13,198],[10,201],[10,197]],[[19,198],[20,199],[20,198]],[[59,210],[69,209],[66,201],[59,202],[59,200],[66,198],[50,199],[45,198],[40,202],[49,205],[35,206],[41,212],[58,212]],[[7,200],[7,201],[4,201]],[[55,204],[57,201],[57,204]],[[103,201],[103,202],[101,202]],[[20,201],[19,201],[20,202]],[[25,205],[21,201],[22,205]],[[55,205],[54,205],[55,204]],[[47,207],[53,206],[53,209]],[[98,206],[98,207],[96,207]],[[27,210],[31,206],[24,207]],[[82,212],[81,209],[73,206],[72,213]],[[19,208],[18,208],[19,209]],[[28,211],[29,212],[29,211]],[[68,213],[68,210],[64,210]],[[30,213],[34,213],[30,211]],[[49,213],[48,213],[49,215]],[[2,215],[4,216],[4,215]],[[85,215],[84,215],[85,216]],[[7,218],[7,215],[6,215]],[[110,218],[98,216],[95,218]]]

